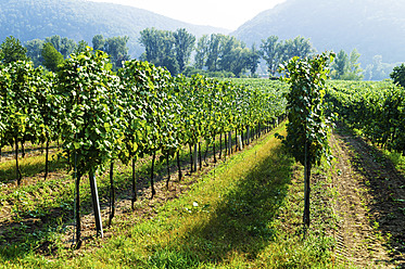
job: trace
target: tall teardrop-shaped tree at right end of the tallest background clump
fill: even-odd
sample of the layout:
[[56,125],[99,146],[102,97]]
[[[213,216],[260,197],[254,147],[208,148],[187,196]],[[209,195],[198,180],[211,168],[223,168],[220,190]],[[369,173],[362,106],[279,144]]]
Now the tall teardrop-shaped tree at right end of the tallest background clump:
[[176,60],[179,66],[179,72],[183,72],[189,62],[191,52],[194,48],[195,37],[189,34],[186,29],[177,29],[174,34]]

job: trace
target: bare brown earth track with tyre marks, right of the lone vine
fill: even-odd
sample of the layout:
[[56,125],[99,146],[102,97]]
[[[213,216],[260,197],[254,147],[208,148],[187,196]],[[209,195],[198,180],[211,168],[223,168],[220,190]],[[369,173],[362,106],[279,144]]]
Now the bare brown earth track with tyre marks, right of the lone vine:
[[338,258],[356,268],[405,268],[404,176],[376,148],[338,126]]

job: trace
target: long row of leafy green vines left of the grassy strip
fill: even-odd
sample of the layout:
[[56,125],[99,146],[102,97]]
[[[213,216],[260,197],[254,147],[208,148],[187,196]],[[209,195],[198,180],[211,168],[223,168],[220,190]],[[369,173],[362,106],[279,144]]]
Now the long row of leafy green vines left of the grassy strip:
[[[113,175],[116,162],[135,167],[137,159],[152,156],[153,197],[156,158],[177,157],[179,163],[178,153],[185,145],[190,152],[202,140],[215,145],[218,136],[227,134],[230,140],[232,131],[249,143],[252,129],[269,126],[284,114],[286,91],[283,86],[264,90],[199,75],[172,77],[164,68],[136,60],[126,62],[115,74],[107,54],[91,49],[73,54],[58,74],[34,68],[30,62],[14,62],[0,66],[0,148],[11,145],[15,150],[20,184],[18,144],[29,141],[47,145],[47,177],[49,144],[62,142],[62,156],[74,171],[76,235],[80,242],[79,188],[85,175],[93,184],[92,196],[98,197],[94,175],[107,168]],[[114,200],[113,177],[111,187]],[[136,194],[132,169],[132,206]],[[99,214],[94,215],[97,218]],[[102,228],[97,229],[102,235]]]

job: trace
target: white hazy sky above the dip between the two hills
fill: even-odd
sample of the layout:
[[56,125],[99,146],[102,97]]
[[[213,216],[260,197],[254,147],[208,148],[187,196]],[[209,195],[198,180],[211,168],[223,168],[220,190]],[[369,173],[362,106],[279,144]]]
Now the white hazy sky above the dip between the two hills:
[[90,0],[113,2],[149,10],[172,18],[198,25],[236,30],[260,12],[286,0]]

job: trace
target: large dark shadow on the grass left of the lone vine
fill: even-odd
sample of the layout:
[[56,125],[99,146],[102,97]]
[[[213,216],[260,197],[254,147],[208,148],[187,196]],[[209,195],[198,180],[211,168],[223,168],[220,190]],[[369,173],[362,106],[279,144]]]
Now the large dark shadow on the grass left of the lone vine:
[[[273,221],[288,192],[293,161],[281,145],[232,188],[210,219],[150,259],[151,268],[220,264],[238,253],[246,259],[277,236]],[[201,213],[204,214],[204,213]],[[173,248],[173,249],[172,249]]]

